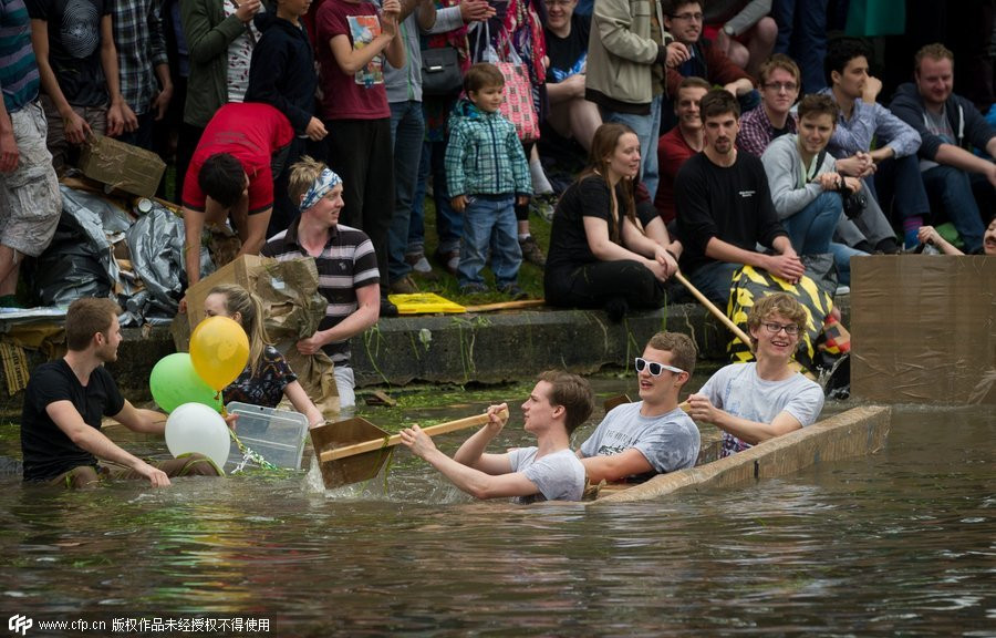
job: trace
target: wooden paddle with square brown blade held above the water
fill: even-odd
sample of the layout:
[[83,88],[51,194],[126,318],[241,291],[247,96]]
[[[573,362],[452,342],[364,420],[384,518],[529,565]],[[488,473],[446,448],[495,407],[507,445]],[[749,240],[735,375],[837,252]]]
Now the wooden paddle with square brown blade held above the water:
[[[508,411],[502,411],[501,415],[508,419]],[[487,414],[477,414],[432,425],[424,432],[433,436],[487,422]],[[312,428],[311,443],[319,459],[322,482],[326,488],[333,488],[369,481],[380,474],[394,446],[401,443],[401,434],[392,436],[366,419],[353,416]]]

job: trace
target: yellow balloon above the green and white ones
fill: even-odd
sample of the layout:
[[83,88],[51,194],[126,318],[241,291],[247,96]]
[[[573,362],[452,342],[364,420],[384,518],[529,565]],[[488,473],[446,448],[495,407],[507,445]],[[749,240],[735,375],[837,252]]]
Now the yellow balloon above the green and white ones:
[[249,362],[249,337],[238,321],[208,317],[190,335],[190,362],[215,391],[238,379]]

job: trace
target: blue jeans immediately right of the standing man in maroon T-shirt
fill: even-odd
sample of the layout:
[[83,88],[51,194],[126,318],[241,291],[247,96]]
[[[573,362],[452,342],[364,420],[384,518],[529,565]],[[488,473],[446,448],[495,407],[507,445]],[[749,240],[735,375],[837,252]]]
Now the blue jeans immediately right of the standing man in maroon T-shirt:
[[[422,158],[425,119],[422,102],[414,100],[391,103],[391,140],[394,143],[394,215],[387,230],[387,271],[397,281],[412,271],[405,261],[409,225]],[[424,191],[423,191],[424,194]],[[423,229],[423,235],[425,230]]]

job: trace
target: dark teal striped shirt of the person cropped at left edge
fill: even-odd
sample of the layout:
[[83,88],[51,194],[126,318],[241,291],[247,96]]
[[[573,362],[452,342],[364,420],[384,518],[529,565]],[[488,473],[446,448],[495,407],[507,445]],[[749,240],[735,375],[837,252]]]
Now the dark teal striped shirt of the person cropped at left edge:
[[0,0],[0,88],[8,113],[38,99],[38,64],[24,0]]

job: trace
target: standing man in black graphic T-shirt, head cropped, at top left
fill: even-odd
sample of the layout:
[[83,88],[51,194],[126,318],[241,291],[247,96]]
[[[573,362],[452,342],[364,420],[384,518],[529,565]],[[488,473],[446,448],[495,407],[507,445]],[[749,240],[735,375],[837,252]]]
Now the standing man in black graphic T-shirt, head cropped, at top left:
[[[52,165],[62,175],[71,154],[93,134],[137,126],[121,96],[110,3],[29,0],[31,41],[41,76]],[[70,28],[66,25],[71,24]]]

